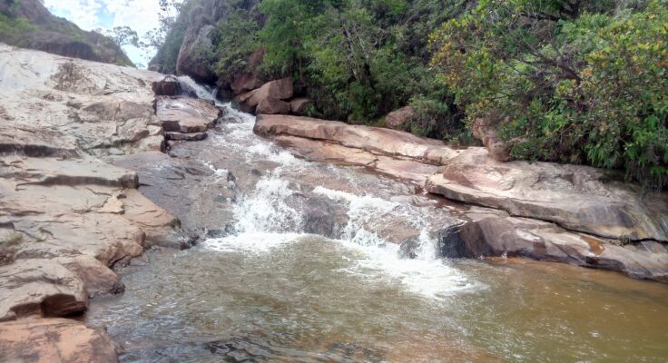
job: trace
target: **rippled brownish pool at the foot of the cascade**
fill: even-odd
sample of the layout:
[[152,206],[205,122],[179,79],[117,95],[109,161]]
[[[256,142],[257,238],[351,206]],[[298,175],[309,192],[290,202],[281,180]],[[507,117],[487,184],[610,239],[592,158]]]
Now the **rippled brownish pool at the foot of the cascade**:
[[296,235],[255,250],[251,240],[152,255],[123,277],[123,296],[93,303],[88,323],[109,328],[123,361],[668,359],[663,285],[473,260],[444,262],[457,279],[440,282],[453,293],[430,298],[369,264],[369,250]]

